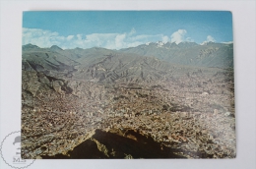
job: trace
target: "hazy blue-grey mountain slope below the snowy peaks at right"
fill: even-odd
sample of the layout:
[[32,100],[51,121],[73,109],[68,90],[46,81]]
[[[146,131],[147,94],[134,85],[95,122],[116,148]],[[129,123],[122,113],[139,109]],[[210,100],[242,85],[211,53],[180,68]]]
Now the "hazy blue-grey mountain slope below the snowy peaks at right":
[[163,61],[199,67],[233,67],[233,44],[207,42],[148,43],[137,47],[121,49],[126,53],[155,56]]

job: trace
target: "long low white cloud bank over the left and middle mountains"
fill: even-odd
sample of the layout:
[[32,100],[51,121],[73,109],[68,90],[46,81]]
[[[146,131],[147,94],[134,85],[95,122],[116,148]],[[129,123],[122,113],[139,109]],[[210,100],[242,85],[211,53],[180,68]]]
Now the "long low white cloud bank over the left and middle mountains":
[[166,42],[169,38],[163,34],[137,34],[135,28],[132,28],[130,32],[123,33],[70,34],[68,36],[45,29],[23,28],[23,44],[32,43],[39,47],[58,45],[63,49],[76,47],[120,49],[158,40]]

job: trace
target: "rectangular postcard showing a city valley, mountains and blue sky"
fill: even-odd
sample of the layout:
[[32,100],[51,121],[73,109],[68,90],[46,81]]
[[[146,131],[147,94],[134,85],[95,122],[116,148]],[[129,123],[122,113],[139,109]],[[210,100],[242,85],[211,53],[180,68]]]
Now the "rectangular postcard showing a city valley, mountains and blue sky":
[[24,159],[234,158],[228,11],[23,14]]

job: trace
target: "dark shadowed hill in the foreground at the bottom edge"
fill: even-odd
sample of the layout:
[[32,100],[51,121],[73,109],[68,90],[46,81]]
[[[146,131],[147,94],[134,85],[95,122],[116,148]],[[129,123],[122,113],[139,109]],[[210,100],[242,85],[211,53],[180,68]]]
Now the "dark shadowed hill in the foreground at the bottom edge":
[[42,156],[42,158],[185,158],[173,153],[178,152],[178,149],[161,145],[160,142],[142,136],[133,130],[127,130],[125,133],[121,131],[114,132],[117,133],[96,130],[96,134],[91,139],[82,142],[72,151],[69,151],[69,156],[56,154],[55,156]]

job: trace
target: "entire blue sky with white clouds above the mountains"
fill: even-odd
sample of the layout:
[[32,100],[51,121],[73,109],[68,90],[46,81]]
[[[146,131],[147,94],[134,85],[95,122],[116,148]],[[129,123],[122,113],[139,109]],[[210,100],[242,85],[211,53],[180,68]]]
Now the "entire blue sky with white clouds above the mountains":
[[24,12],[23,44],[120,49],[149,41],[232,41],[230,12]]

